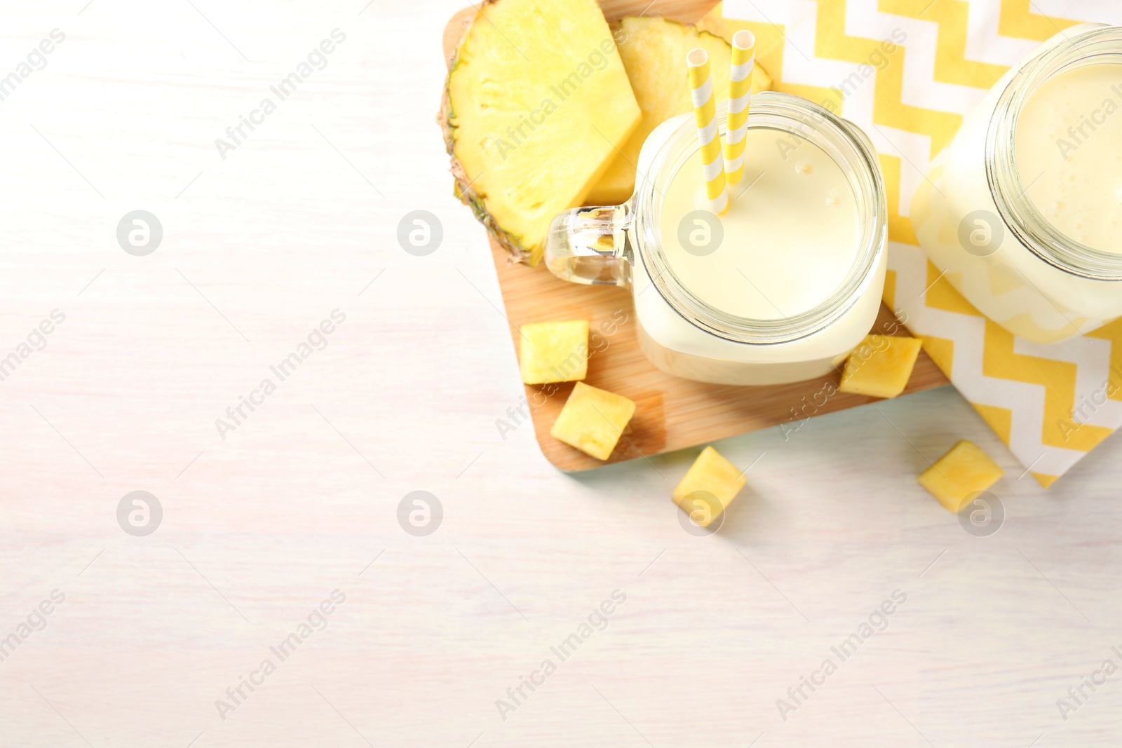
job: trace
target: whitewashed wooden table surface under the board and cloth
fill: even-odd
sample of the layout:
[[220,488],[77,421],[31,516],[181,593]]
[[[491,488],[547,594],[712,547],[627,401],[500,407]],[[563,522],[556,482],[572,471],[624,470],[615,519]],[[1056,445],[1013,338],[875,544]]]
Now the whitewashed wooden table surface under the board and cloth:
[[[1122,441],[1046,492],[941,388],[718,444],[758,461],[695,537],[669,498],[692,452],[565,475],[495,426],[514,352],[434,124],[459,0],[85,2],[0,17],[0,77],[65,35],[0,101],[0,745],[1118,745],[1122,674],[1066,720],[1057,700],[1122,666]],[[136,210],[163,227],[147,256],[116,236]],[[425,257],[397,242],[414,210],[443,228]],[[960,437],[1006,470],[991,537],[914,480]],[[147,536],[118,524],[135,490],[163,508]],[[443,507],[429,536],[398,525],[415,490]]]

